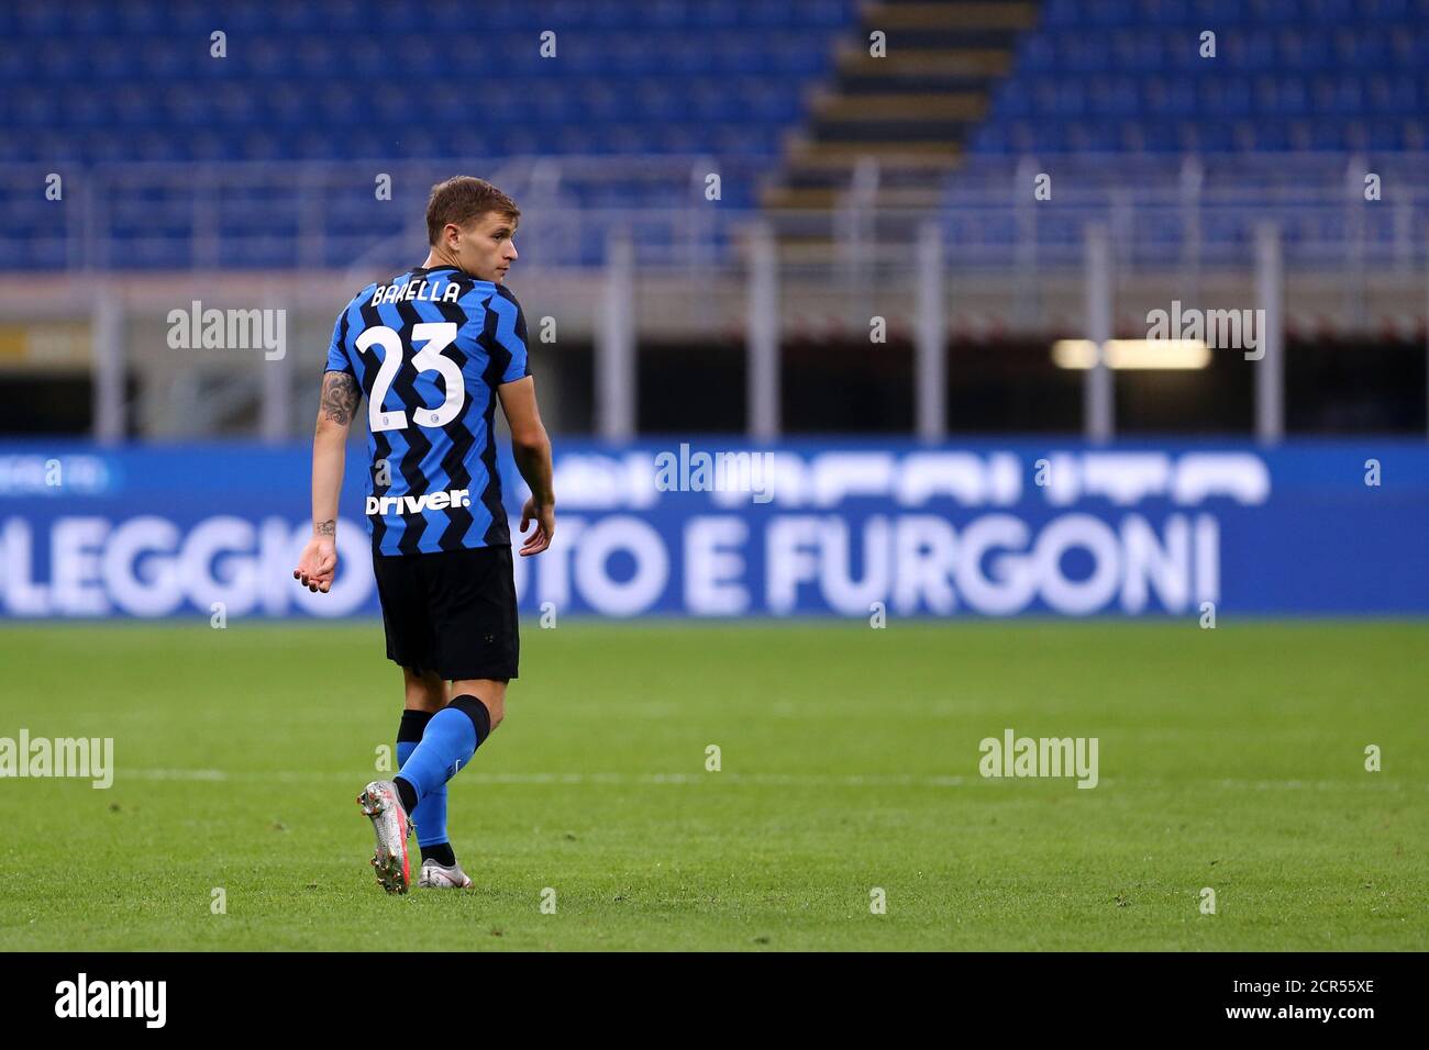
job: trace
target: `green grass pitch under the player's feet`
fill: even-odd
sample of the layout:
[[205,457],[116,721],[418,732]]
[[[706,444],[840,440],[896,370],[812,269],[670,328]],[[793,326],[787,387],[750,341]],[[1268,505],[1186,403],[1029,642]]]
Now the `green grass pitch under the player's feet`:
[[[450,789],[476,889],[389,897],[353,801],[402,704],[379,624],[7,627],[0,737],[113,737],[117,773],[0,780],[0,950],[1423,950],[1426,651],[1423,621],[527,623]],[[1099,786],[982,779],[1006,727],[1097,737]]]

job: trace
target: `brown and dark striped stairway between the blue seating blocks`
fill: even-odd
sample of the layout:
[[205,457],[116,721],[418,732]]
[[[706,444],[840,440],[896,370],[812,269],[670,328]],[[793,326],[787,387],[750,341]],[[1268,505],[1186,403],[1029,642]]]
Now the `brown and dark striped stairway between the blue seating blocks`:
[[1017,34],[1036,21],[1029,0],[882,0],[863,9],[832,89],[813,103],[807,134],[790,141],[779,177],[763,187],[766,209],[795,213],[779,224],[780,240],[826,241],[797,213],[837,207],[850,191],[880,209],[936,207],[995,83],[1012,69]]

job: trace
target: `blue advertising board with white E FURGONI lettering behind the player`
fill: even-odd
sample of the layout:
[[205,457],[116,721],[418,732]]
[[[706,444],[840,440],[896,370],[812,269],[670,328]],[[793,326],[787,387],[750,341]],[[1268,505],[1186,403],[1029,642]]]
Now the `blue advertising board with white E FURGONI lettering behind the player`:
[[[292,579],[302,446],[0,444],[0,616],[376,614],[349,449],[337,583]],[[503,459],[513,533],[524,486]],[[1429,613],[1429,446],[556,441],[526,613]]]

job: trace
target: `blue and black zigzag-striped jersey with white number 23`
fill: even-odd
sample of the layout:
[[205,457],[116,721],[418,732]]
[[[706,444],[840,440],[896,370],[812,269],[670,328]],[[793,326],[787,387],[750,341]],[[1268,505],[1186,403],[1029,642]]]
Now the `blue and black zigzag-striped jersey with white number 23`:
[[379,554],[510,544],[493,423],[496,389],[530,374],[516,296],[450,266],[369,284],[337,317],[327,370],[367,399]]

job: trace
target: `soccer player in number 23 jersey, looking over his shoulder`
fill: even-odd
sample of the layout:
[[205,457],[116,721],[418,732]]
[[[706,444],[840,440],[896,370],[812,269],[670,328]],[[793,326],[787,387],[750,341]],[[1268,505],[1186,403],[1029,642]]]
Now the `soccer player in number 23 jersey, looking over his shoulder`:
[[522,556],[556,531],[550,439],[536,409],[526,320],[503,284],[520,211],[482,179],[449,179],[427,201],[426,261],[369,284],[337,317],[313,437],[313,537],[293,577],[327,593],[337,571],[337,494],[353,413],[367,397],[367,527],[387,657],[402,667],[399,773],[357,801],[377,836],[389,893],[472,884],[447,839],[446,783],[500,724],[520,640],[512,537],[496,469],[496,401],[530,499]]

